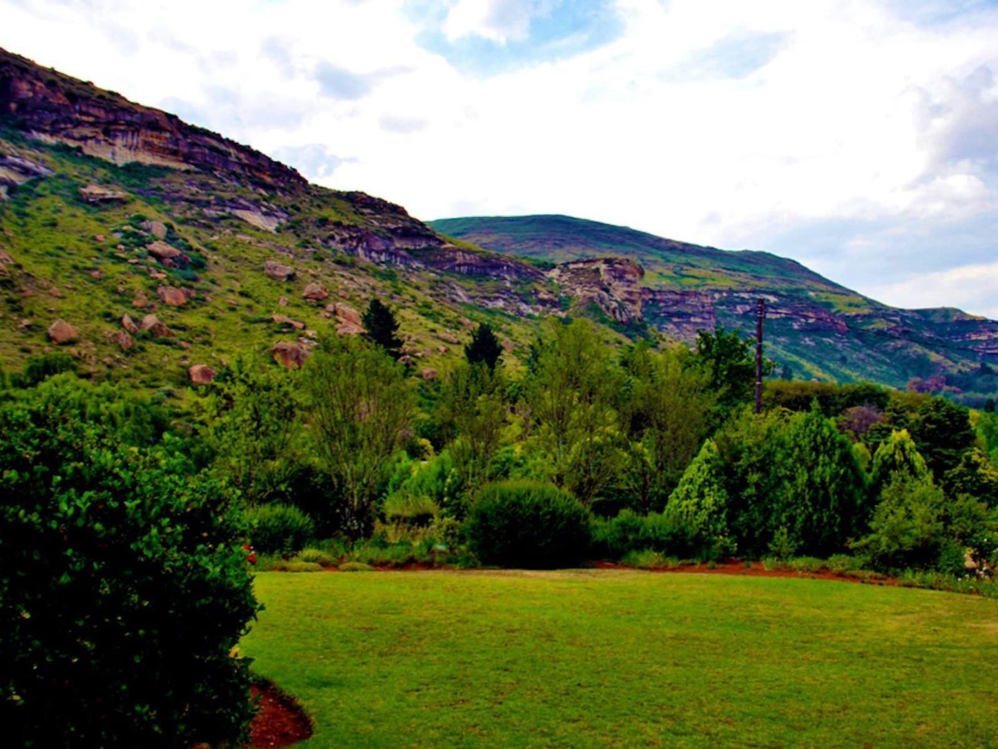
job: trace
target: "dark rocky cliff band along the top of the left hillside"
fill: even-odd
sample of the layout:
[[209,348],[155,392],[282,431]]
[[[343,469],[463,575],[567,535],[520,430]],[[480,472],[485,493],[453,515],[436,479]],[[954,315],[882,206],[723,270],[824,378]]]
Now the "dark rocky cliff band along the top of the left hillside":
[[247,146],[2,49],[0,114],[35,138],[119,165],[223,172],[267,190],[306,185],[293,169]]

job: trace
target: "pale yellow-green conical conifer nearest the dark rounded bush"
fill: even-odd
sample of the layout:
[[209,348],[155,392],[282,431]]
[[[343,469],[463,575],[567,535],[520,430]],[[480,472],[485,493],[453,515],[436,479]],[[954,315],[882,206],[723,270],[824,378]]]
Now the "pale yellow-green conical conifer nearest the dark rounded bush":
[[666,515],[688,527],[700,554],[719,558],[735,553],[728,527],[728,491],[721,454],[713,439],[704,442],[669,497]]

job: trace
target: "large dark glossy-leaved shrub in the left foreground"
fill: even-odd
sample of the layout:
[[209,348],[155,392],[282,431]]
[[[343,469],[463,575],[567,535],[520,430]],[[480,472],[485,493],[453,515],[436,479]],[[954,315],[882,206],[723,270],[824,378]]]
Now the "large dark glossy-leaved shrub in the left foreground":
[[[70,403],[67,405],[67,403]],[[221,484],[124,446],[71,399],[0,410],[0,701],[12,746],[242,738],[257,610]]]

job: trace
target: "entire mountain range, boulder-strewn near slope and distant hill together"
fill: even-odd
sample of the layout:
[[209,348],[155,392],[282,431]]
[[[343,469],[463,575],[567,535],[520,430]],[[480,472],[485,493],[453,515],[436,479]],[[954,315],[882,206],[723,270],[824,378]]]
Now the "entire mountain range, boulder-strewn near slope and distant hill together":
[[[483,249],[484,248],[484,249]],[[894,310],[799,264],[567,217],[424,224],[175,115],[0,50],[0,367],[51,353],[181,392],[233,357],[295,366],[375,297],[426,377],[488,322],[514,367],[550,316],[612,340],[749,330],[797,376],[995,389],[998,325]],[[69,358],[62,358],[66,361]]]

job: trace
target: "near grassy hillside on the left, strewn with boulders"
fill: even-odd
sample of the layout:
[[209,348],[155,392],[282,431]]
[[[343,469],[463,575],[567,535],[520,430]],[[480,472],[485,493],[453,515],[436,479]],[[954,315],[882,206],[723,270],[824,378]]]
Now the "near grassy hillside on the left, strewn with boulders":
[[374,297],[427,377],[482,322],[515,365],[573,305],[532,263],[0,50],[4,370],[60,352],[174,388],[252,351],[293,366],[323,332],[358,333]]

